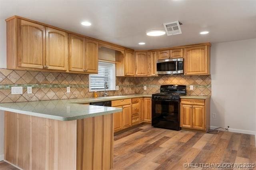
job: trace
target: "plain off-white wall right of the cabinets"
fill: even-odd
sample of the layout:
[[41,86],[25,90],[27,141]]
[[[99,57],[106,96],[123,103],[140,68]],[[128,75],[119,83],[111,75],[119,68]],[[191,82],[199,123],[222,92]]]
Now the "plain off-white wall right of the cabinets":
[[255,134],[256,39],[212,44],[211,75],[211,126]]

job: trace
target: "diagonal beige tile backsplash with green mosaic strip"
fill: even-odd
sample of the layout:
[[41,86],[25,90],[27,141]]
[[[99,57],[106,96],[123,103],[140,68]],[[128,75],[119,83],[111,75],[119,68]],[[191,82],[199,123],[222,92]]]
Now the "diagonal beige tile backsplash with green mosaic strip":
[[[82,74],[0,69],[0,103],[93,97],[89,92],[88,78]],[[108,91],[108,94],[152,94],[159,92],[160,85],[164,84],[187,85],[188,95],[211,95],[210,75],[116,77],[119,90]],[[194,85],[193,90],[190,90],[190,85]],[[12,95],[12,86],[22,86],[23,94]],[[32,86],[32,94],[27,94],[28,86]],[[70,87],[70,93],[66,93],[66,87]],[[98,94],[102,96],[103,92]]]

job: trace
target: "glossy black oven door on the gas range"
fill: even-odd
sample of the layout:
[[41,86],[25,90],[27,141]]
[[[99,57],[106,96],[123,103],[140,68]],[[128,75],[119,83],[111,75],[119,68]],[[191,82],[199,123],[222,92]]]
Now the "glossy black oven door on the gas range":
[[179,122],[180,102],[178,100],[152,99],[152,119]]

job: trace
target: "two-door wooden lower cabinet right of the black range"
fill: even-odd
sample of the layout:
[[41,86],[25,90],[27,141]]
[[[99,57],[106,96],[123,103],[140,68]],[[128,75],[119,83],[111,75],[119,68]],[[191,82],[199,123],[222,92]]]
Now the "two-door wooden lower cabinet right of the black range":
[[207,132],[210,128],[210,97],[204,100],[181,99],[180,127]]

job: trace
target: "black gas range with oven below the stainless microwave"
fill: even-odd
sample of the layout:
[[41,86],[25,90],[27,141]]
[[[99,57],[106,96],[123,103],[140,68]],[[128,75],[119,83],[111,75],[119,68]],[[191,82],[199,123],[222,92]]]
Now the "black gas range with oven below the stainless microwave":
[[185,85],[161,85],[160,93],[152,95],[152,126],[180,130],[180,96]]

